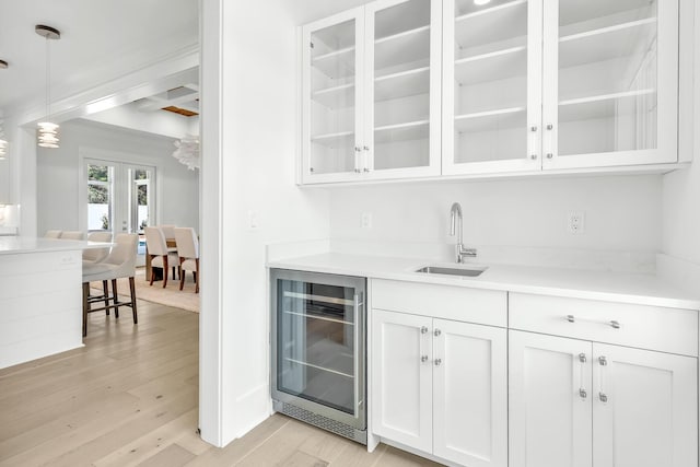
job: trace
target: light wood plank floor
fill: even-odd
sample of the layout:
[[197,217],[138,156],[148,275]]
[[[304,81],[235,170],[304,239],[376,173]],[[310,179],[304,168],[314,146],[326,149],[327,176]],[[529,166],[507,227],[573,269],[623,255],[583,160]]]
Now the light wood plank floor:
[[0,370],[0,467],[433,466],[275,415],[225,448],[197,434],[196,313],[90,315],[85,347]]

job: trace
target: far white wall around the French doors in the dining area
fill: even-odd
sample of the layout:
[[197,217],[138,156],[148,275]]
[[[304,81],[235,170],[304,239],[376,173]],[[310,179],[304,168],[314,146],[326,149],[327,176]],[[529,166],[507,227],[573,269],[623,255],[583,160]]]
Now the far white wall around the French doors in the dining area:
[[[136,133],[101,124],[73,120],[61,125],[60,148],[37,151],[37,231],[83,230],[79,199],[80,155],[114,156],[156,166],[159,222],[199,225],[197,172],[171,154],[170,138]],[[92,155],[94,154],[94,155]]]

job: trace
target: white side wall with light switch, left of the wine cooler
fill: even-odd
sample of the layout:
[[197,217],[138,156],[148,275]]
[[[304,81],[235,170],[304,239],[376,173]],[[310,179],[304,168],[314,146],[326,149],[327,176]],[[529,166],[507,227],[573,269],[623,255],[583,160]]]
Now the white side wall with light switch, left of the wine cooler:
[[202,257],[219,259],[202,278],[219,281],[202,283],[200,427],[217,445],[269,416],[266,244],[329,233],[328,195],[294,185],[296,26],[327,3],[202,3]]

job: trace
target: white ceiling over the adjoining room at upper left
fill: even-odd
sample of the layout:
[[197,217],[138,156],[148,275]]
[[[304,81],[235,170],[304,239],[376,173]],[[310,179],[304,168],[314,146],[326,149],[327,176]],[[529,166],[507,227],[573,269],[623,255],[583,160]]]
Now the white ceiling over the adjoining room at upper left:
[[[61,32],[50,42],[51,100],[122,77],[199,42],[198,0],[0,0],[0,110],[45,98],[46,24]],[[197,112],[197,83],[138,103],[143,109],[176,105]]]

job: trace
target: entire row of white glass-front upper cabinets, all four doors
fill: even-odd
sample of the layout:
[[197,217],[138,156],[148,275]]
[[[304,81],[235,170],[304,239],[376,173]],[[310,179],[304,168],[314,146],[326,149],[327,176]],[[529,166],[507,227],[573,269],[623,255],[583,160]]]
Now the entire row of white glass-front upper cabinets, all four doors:
[[301,182],[676,163],[689,1],[377,0],[307,25]]

